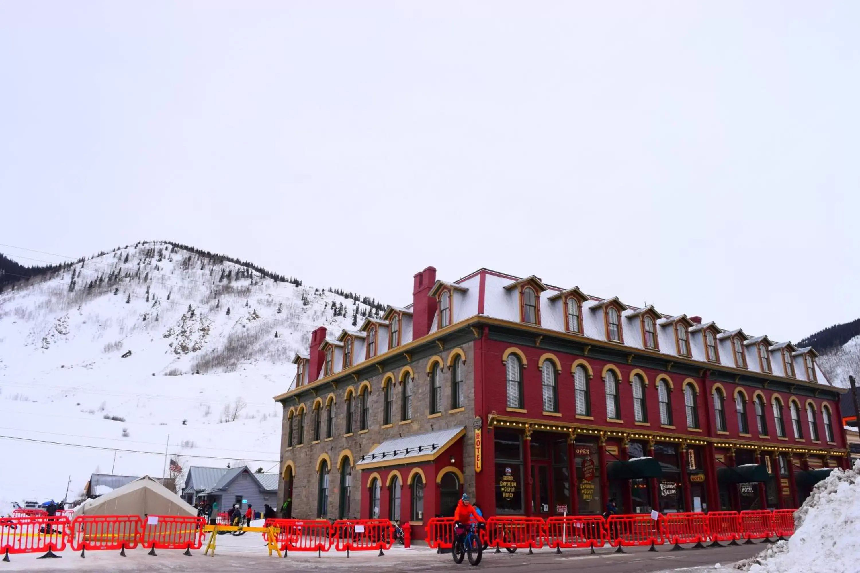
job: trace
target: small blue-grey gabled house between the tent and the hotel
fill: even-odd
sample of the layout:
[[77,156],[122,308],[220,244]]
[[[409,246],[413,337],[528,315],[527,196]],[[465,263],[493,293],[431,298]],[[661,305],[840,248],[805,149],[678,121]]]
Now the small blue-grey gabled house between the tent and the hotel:
[[210,503],[218,502],[219,510],[238,503],[244,511],[251,505],[262,513],[266,503],[277,507],[278,474],[251,472],[248,466],[191,466],[182,498],[191,504],[206,498]]

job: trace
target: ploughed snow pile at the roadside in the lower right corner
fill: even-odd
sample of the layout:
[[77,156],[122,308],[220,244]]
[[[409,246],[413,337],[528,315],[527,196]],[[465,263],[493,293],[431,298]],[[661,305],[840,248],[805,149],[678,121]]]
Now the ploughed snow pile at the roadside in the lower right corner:
[[860,462],[833,470],[795,514],[796,532],[743,564],[749,573],[857,573],[860,570]]

